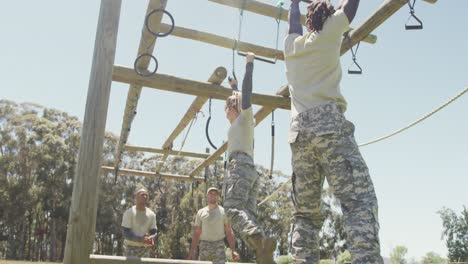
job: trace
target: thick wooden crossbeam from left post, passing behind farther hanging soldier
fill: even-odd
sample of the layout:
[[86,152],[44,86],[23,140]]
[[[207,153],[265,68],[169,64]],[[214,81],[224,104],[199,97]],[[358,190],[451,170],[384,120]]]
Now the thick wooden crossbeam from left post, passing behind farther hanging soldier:
[[[170,92],[211,97],[219,100],[226,100],[226,98],[232,94],[231,88],[223,87],[221,85],[182,79],[158,73],[151,77],[142,77],[136,74],[133,69],[121,66],[114,66],[113,80]],[[274,95],[254,93],[252,94],[252,103],[287,110],[291,108],[289,98]]]

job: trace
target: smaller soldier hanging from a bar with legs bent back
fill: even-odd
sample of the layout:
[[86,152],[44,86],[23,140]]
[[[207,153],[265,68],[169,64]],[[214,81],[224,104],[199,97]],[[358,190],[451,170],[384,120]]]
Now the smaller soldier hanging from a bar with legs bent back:
[[226,100],[228,131],[228,173],[224,179],[224,207],[232,228],[255,251],[257,262],[274,263],[276,241],[265,237],[256,219],[259,175],[253,161],[254,119],[252,95],[253,53],[247,54],[242,93],[237,92],[237,80],[230,78],[234,94]]

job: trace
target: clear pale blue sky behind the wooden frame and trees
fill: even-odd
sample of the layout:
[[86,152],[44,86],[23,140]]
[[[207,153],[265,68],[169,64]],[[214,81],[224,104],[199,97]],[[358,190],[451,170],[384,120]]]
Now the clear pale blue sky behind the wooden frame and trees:
[[[276,4],[276,0],[262,0]],[[336,3],[336,1],[333,1]],[[363,22],[381,1],[362,1],[353,26]],[[35,102],[84,116],[100,1],[4,1],[0,9],[0,98]],[[286,1],[289,6],[289,1]],[[132,67],[147,1],[122,4],[116,64]],[[302,6],[304,10],[305,6]],[[176,24],[234,37],[238,11],[206,0],[169,0]],[[468,1],[418,1],[422,31],[405,31],[408,7],[402,8],[374,34],[377,44],[363,43],[358,60],[362,76],[344,74],[342,90],[346,115],[363,143],[409,124],[468,87]],[[243,40],[274,47],[275,21],[246,13]],[[281,38],[286,24],[281,24]],[[282,48],[282,43],[280,43]],[[231,69],[231,50],[167,37],[156,45],[160,73],[205,81],[217,66]],[[342,57],[344,70],[349,54]],[[243,74],[244,58],[236,60]],[[256,63],[254,89],[274,93],[286,83],[284,65]],[[113,83],[107,130],[120,133],[128,85]],[[144,89],[130,135],[130,143],[161,147],[185,113],[192,96]],[[207,106],[206,106],[207,107]],[[207,113],[207,108],[204,112]],[[220,145],[228,124],[223,102],[213,103],[212,138]],[[440,240],[442,223],[436,213],[443,206],[460,212],[468,205],[468,95],[427,121],[389,140],[361,149],[370,168],[380,205],[383,255],[397,245],[408,256],[429,251],[445,255]],[[286,142],[289,112],[276,111],[276,169],[291,173]],[[255,132],[256,162],[269,166],[270,118]],[[204,151],[206,117],[200,117],[184,150]],[[181,137],[180,137],[181,138]],[[175,149],[180,147],[180,139]]]

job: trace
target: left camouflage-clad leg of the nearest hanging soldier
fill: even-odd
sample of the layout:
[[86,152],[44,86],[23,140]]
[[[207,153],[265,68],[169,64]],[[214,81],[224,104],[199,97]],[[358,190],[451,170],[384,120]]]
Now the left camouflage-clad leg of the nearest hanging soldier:
[[293,263],[319,263],[320,212],[324,176],[314,154],[313,134],[300,133],[291,143],[293,204],[291,253]]

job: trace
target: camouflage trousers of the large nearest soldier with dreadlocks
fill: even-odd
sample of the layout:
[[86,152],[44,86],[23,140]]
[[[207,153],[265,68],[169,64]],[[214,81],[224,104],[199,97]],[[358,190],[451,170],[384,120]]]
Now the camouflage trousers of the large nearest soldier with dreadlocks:
[[292,254],[294,263],[319,263],[319,232],[324,222],[324,179],[339,199],[354,264],[382,264],[377,198],[354,139],[354,125],[334,103],[312,108],[291,120]]

